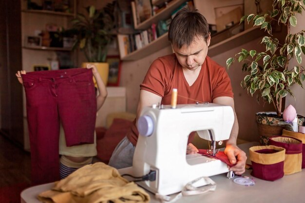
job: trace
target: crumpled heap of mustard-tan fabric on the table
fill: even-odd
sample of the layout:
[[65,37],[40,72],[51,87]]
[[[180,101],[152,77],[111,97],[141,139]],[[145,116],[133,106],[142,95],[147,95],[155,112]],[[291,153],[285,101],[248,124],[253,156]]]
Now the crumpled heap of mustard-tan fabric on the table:
[[148,203],[150,196],[133,182],[122,178],[111,166],[98,162],[79,168],[42,192],[43,203]]

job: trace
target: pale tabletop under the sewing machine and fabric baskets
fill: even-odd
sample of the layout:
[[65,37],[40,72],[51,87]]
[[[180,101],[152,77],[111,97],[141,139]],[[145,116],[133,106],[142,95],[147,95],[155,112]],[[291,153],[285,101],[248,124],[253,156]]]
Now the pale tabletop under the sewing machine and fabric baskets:
[[[246,143],[239,147],[248,154],[248,148],[257,143]],[[122,169],[120,172],[125,172]],[[251,170],[246,170],[244,176],[249,176]],[[255,185],[243,186],[235,184],[228,179],[226,174],[210,177],[217,185],[216,190],[201,195],[186,196],[176,203],[305,203],[305,169],[299,173],[285,175],[283,178],[274,181],[255,179]],[[21,203],[40,203],[36,197],[40,192],[49,190],[54,183],[38,185],[27,188],[21,192]],[[159,203],[151,195],[151,203]]]

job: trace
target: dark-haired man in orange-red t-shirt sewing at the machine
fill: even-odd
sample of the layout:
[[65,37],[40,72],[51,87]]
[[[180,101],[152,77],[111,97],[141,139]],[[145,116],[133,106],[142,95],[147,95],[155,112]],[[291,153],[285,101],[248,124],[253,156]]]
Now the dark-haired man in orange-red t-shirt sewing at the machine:
[[[197,11],[184,8],[172,19],[168,34],[174,54],[157,58],[152,62],[143,83],[137,118],[145,106],[171,104],[172,89],[178,89],[177,104],[212,102],[231,106],[234,99],[231,82],[226,70],[210,59],[208,47],[210,32],[207,20]],[[229,170],[236,174],[245,172],[246,153],[236,146],[238,121],[235,120],[225,154],[231,164]],[[134,146],[138,131],[136,120],[126,137],[114,149],[109,165],[116,168],[132,166]],[[188,144],[187,153],[198,149]]]

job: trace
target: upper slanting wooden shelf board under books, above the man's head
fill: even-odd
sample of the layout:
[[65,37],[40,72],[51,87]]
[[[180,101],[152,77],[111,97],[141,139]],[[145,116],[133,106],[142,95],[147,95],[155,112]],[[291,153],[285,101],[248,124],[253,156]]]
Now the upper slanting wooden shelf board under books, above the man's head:
[[[149,27],[151,27],[152,23],[157,24],[160,20],[165,20],[167,18],[170,18],[172,16],[172,12],[185,1],[187,1],[187,0],[172,0],[169,3],[169,5],[160,13],[156,14],[155,16],[152,16],[152,18],[149,18],[149,19],[141,22],[140,24],[134,24],[134,29],[146,30]],[[133,10],[133,16],[134,16],[135,10],[134,10],[134,8],[132,10]]]

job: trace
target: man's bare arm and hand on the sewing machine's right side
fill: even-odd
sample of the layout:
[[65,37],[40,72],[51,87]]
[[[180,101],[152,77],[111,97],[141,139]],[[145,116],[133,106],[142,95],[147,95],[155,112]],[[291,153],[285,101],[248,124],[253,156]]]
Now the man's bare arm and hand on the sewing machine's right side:
[[213,100],[213,103],[228,105],[233,108],[234,111],[234,124],[231,130],[229,140],[226,142],[225,154],[228,156],[231,164],[235,164],[229,168],[229,170],[234,171],[236,174],[241,175],[245,172],[245,165],[247,156],[244,151],[236,145],[237,135],[238,135],[238,121],[234,109],[234,99],[229,96],[217,97]]

